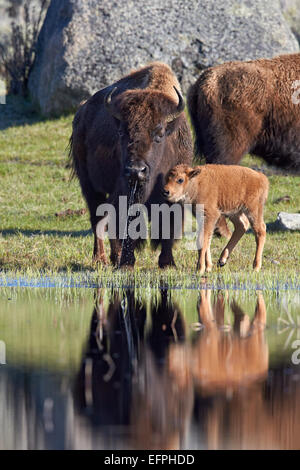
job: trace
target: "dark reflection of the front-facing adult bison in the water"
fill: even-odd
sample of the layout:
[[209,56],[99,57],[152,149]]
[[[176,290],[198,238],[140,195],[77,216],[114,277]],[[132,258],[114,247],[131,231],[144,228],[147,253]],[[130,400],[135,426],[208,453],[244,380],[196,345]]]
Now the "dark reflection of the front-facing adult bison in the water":
[[[177,449],[192,411],[189,383],[170,377],[168,349],[185,338],[185,323],[168,292],[146,309],[134,291],[116,295],[107,312],[101,292],[76,386],[77,404],[96,425],[126,426],[127,445]],[[125,445],[126,446],[126,445]]]

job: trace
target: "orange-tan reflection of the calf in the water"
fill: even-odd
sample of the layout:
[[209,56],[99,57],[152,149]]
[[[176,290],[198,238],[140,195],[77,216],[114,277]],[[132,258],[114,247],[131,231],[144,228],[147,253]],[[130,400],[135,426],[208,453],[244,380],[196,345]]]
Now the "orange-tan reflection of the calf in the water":
[[210,291],[201,294],[199,318],[204,330],[193,347],[192,373],[201,394],[232,390],[267,377],[268,347],[265,341],[266,307],[258,294],[252,321],[235,301],[231,302],[233,326],[224,324],[224,297],[212,308]]

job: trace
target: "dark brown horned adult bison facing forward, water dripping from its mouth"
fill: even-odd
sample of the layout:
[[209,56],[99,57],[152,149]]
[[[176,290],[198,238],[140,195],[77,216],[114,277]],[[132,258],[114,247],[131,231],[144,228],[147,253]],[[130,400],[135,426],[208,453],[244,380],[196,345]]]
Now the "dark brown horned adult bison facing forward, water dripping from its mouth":
[[[70,145],[90,212],[94,260],[105,264],[103,237],[97,230],[103,217],[96,215],[97,207],[113,203],[118,218],[119,196],[129,196],[133,187],[147,208],[163,203],[164,175],[178,163],[191,163],[192,138],[171,69],[152,63],[98,91],[77,111]],[[117,239],[110,239],[111,261],[133,266],[136,241],[127,239],[122,250],[122,234],[117,233]],[[162,268],[174,265],[173,238],[171,230],[169,239],[160,240]]]

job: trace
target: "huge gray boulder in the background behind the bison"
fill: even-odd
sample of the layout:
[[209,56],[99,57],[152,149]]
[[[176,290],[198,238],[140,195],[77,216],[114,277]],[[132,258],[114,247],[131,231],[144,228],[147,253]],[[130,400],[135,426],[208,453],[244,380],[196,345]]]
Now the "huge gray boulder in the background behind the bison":
[[185,92],[204,67],[298,50],[280,0],[52,0],[29,88],[60,114],[154,60]]

